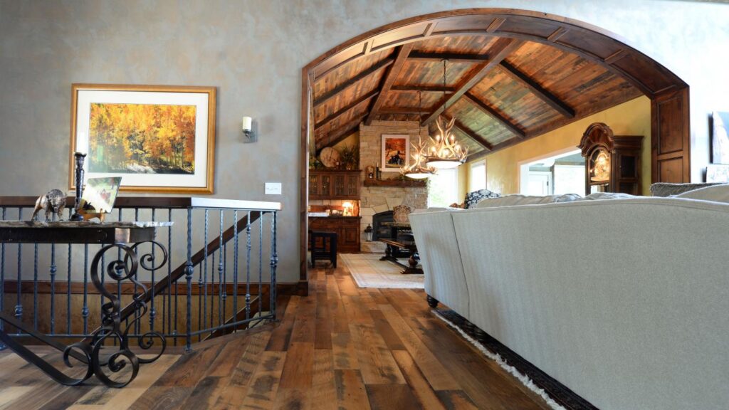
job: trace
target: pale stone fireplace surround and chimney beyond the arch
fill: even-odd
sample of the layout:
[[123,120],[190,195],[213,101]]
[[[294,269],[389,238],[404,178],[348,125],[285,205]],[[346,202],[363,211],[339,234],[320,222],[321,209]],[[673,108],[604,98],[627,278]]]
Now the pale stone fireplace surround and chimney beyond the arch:
[[[362,190],[360,191],[359,212],[362,216],[360,241],[362,252],[385,252],[385,244],[378,241],[367,242],[364,228],[372,225],[373,215],[391,211],[395,206],[408,205],[412,209],[428,207],[427,187],[365,187],[364,179],[367,166],[379,166],[381,158],[382,134],[408,134],[410,141],[428,138],[427,128],[420,127],[418,121],[373,121],[372,125],[359,125],[359,167],[362,171]],[[397,172],[383,172],[381,179],[397,177]]]

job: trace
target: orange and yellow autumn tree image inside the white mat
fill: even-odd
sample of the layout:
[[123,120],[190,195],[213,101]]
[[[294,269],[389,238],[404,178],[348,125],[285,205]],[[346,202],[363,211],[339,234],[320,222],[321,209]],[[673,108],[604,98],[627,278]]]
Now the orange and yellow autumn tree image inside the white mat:
[[195,173],[194,105],[90,104],[90,172]]

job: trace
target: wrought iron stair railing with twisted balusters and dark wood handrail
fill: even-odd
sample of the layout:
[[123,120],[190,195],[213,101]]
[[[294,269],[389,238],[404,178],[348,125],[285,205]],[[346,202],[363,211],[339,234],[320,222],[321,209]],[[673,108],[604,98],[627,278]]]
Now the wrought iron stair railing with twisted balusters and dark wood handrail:
[[[0,197],[0,220],[29,219],[35,199]],[[69,198],[67,209],[72,203],[73,198]],[[191,349],[195,341],[276,318],[276,217],[280,204],[120,197],[115,207],[108,216],[114,220],[175,223],[165,228],[166,235],[162,229],[158,233],[157,240],[168,248],[170,258],[163,272],[155,268],[160,252],[153,247],[139,252],[151,267],[147,276],[135,278],[147,287],[141,295],[149,306],[145,320],[135,320],[138,313],[132,295],[138,293],[136,285],[102,284],[120,298],[122,306],[126,303],[120,320],[133,322],[130,338],[159,331],[169,345],[183,344]],[[28,247],[33,252],[28,252]],[[89,287],[88,259],[90,252],[95,252],[93,247],[0,244],[0,312],[52,338],[92,338],[101,330],[104,303],[104,298]],[[196,247],[199,250],[193,254]],[[10,330],[10,336],[23,339],[23,343],[31,340],[28,333]]]

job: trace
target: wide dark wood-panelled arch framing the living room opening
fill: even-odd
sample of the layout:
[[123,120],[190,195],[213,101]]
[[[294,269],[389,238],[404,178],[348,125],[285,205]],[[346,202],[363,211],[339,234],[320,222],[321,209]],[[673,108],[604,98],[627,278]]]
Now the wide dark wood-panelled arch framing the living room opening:
[[[413,43],[430,39],[453,36],[484,36],[498,39],[494,46],[482,58],[482,70],[498,65],[507,55],[523,42],[534,42],[578,55],[601,68],[619,76],[650,98],[652,116],[652,180],[653,182],[688,182],[690,179],[690,136],[688,112],[688,85],[679,77],[666,69],[657,61],[628,45],[625,39],[617,34],[605,31],[588,23],[518,9],[459,9],[448,12],[437,12],[414,18],[400,20],[380,28],[361,34],[344,42],[332,50],[320,55],[308,63],[302,71],[301,96],[301,179],[300,179],[300,279],[306,280],[306,250],[308,222],[308,153],[309,142],[313,131],[311,112],[313,107],[313,85],[318,79],[373,53],[394,49],[390,61],[383,64],[383,80],[377,93],[362,96],[348,107],[367,103],[369,111],[364,115],[352,116],[350,123],[364,120],[369,123],[381,107],[383,96],[392,87],[393,79],[388,74],[402,68],[408,58]],[[515,77],[519,77],[518,71]],[[483,77],[479,77],[483,78]],[[466,79],[468,80],[468,79]],[[473,80],[473,79],[472,79]],[[529,84],[529,79],[521,79],[535,93],[541,94],[543,101],[564,115],[573,115],[569,107],[553,98],[538,84]],[[475,98],[467,91],[473,84],[451,91],[451,95],[427,113],[423,123],[443,113],[448,103],[453,104],[459,98],[473,101]],[[335,92],[336,90],[331,90]],[[445,94],[444,94],[445,97]],[[551,101],[550,101],[551,100]],[[477,101],[476,101],[477,104]],[[488,110],[482,105],[481,109]],[[480,142],[488,152],[502,149],[511,144],[518,144],[538,134],[527,134],[518,127],[510,125],[498,113],[491,112],[502,124],[510,128],[515,138],[499,144],[488,144],[483,137],[467,134]],[[303,288],[305,289],[305,287]]]

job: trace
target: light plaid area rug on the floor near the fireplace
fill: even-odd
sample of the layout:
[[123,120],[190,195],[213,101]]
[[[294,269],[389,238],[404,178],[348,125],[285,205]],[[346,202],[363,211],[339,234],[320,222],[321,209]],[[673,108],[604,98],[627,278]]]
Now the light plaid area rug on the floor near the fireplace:
[[402,266],[380,260],[380,254],[342,253],[340,257],[359,287],[423,289],[423,275],[400,274]]

